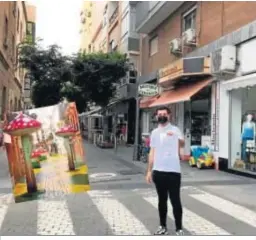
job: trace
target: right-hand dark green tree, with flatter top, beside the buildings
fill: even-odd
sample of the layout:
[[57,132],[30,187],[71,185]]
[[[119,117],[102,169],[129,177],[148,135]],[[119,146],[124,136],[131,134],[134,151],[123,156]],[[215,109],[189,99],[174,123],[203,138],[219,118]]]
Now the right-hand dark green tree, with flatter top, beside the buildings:
[[113,98],[116,84],[125,76],[126,70],[126,56],[118,52],[79,54],[73,59],[71,75],[74,77],[68,87],[75,94],[66,96],[71,100],[83,98],[106,107]]

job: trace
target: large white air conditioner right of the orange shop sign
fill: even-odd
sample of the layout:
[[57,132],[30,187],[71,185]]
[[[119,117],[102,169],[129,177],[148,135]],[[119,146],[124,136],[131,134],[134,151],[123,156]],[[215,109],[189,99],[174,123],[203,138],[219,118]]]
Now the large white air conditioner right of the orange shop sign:
[[211,72],[215,75],[233,75],[236,71],[236,46],[226,45],[211,53]]

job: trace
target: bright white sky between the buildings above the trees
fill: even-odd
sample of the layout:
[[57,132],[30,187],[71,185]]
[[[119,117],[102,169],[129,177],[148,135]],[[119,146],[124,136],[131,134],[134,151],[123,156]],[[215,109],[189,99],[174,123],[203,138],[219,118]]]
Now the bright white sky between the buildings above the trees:
[[77,52],[80,46],[80,11],[83,0],[32,0],[37,8],[36,36],[43,46],[58,44],[64,54]]

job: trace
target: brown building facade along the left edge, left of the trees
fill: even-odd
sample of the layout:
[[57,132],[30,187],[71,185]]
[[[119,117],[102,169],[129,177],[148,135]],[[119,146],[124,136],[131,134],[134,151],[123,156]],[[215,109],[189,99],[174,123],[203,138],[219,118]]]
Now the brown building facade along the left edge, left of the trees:
[[0,112],[23,107],[25,72],[18,65],[18,47],[26,36],[27,6],[24,1],[0,2]]

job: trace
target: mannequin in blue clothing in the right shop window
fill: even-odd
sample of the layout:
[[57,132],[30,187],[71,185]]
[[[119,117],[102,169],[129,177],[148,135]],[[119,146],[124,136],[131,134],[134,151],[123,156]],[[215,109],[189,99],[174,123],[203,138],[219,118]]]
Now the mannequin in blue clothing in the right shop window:
[[255,141],[255,123],[253,122],[253,115],[246,115],[246,119],[242,126],[242,160],[247,162],[246,147],[248,141]]

